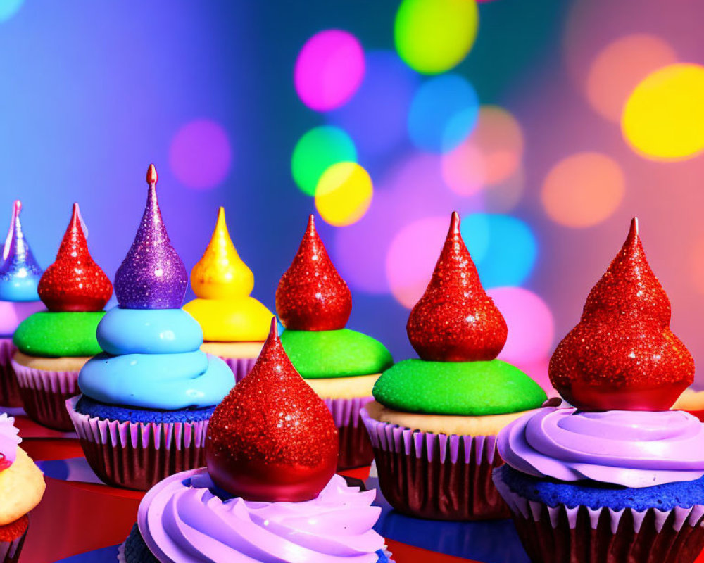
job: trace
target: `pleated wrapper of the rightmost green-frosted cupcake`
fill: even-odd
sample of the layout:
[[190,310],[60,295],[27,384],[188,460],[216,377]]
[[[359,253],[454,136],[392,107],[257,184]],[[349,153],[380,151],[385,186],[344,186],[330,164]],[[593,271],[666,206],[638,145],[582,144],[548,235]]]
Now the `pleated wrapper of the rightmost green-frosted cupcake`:
[[503,464],[496,436],[413,431],[372,419],[362,410],[379,488],[399,512],[435,520],[508,518],[491,472]]

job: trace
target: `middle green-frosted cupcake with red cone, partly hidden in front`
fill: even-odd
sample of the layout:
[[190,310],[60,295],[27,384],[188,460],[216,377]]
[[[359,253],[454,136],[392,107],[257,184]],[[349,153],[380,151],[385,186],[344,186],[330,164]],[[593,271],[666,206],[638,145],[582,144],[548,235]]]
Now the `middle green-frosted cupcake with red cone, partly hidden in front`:
[[371,336],[346,329],[352,297],[315,231],[313,215],[291,267],[276,290],[276,311],[286,328],[281,342],[298,373],[327,404],[340,437],[339,469],[372,462],[360,410],[393,364]]

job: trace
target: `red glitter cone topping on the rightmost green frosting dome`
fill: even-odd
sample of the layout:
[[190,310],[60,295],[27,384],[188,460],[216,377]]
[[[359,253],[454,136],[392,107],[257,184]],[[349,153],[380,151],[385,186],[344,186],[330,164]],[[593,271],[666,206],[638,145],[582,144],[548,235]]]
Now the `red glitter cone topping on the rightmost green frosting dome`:
[[420,358],[436,362],[494,360],[506,343],[508,327],[479,281],[456,211],[433,277],[410,312],[406,331]]

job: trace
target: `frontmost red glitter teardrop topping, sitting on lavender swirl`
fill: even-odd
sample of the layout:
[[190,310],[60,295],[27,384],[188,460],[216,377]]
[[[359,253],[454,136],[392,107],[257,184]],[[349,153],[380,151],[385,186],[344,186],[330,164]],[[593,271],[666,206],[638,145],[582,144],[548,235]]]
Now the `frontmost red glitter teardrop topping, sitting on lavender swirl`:
[[274,318],[252,371],[210,418],[208,473],[245,500],[301,502],[332,479],[337,453],[332,415],[291,365]]

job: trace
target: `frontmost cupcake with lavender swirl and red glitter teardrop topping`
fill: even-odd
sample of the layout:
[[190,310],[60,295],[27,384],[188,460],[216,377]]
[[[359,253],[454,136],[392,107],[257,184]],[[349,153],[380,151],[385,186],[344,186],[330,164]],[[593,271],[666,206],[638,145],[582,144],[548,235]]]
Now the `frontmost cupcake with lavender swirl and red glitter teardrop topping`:
[[389,561],[375,491],[335,474],[337,429],[271,332],[251,373],[215,408],[207,467],[146,493],[123,563]]

